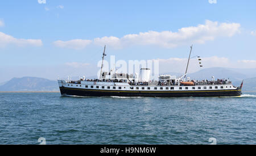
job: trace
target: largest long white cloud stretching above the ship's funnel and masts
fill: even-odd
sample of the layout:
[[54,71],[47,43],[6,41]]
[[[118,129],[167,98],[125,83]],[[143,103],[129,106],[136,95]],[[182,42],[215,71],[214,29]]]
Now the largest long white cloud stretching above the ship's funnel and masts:
[[[121,38],[115,36],[97,37],[92,40],[92,43],[100,46],[106,44],[116,49],[133,45],[156,45],[162,48],[175,48],[181,45],[204,44],[206,41],[214,40],[217,37],[232,37],[239,32],[239,23],[218,23],[206,20],[205,24],[180,28],[177,32],[148,31],[128,34]],[[86,41],[88,44],[90,43],[88,40]]]

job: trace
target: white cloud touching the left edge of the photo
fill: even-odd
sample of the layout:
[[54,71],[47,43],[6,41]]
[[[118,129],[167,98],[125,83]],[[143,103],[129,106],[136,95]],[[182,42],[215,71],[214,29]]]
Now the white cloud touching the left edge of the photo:
[[24,46],[36,46],[40,47],[43,45],[42,40],[34,40],[34,39],[16,39],[13,36],[6,35],[3,32],[0,32],[0,47],[5,47],[6,45],[13,44],[18,45],[20,47]]

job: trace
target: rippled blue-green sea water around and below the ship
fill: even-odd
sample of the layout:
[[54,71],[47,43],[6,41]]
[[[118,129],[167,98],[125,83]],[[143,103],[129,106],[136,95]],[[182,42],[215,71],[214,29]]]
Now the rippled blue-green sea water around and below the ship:
[[210,144],[209,138],[256,144],[256,92],[222,98],[0,93],[0,144]]

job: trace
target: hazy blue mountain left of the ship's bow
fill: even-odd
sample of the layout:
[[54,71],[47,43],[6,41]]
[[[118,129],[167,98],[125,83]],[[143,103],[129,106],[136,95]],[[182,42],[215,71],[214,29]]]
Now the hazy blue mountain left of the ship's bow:
[[0,86],[0,91],[59,91],[57,81],[45,78],[13,78]]

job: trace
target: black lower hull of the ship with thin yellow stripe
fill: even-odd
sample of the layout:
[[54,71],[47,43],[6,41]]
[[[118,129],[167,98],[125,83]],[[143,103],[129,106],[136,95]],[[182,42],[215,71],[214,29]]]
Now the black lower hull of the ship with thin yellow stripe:
[[62,96],[151,96],[151,97],[184,97],[184,96],[240,96],[237,90],[203,90],[203,91],[122,91],[122,90],[90,90],[81,88],[60,87]]

